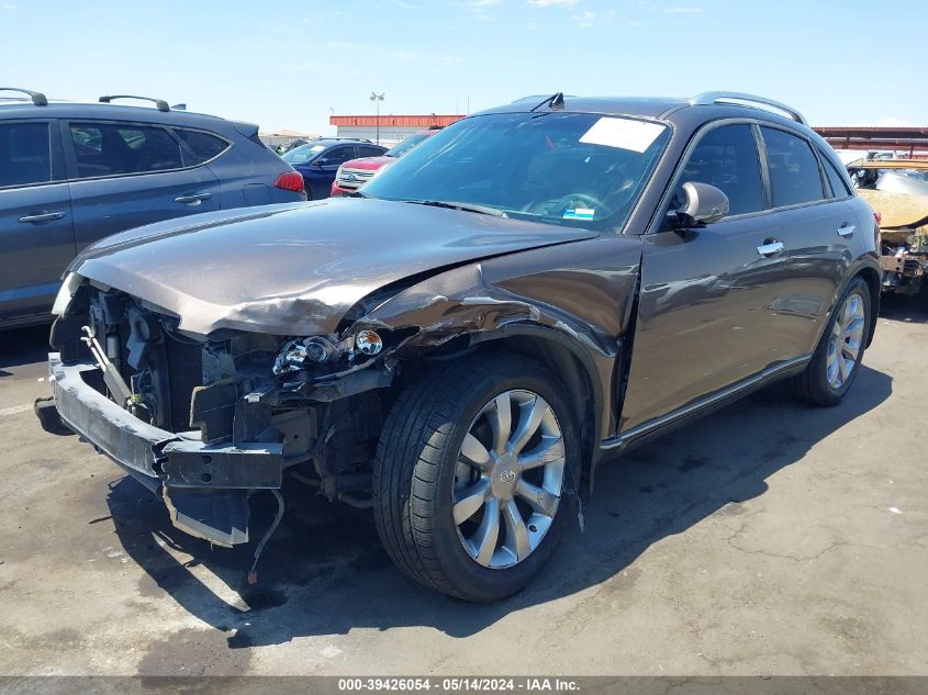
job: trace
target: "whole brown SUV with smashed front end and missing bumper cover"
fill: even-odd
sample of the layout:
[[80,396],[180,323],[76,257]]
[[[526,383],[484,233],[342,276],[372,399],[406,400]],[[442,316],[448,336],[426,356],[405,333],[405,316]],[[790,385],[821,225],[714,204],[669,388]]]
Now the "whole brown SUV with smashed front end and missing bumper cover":
[[249,496],[282,513],[295,473],[372,507],[410,576],[497,599],[606,455],[779,379],[843,397],[876,237],[783,104],[521,100],[353,198],[96,244],[56,302],[54,405],[189,534],[247,542]]

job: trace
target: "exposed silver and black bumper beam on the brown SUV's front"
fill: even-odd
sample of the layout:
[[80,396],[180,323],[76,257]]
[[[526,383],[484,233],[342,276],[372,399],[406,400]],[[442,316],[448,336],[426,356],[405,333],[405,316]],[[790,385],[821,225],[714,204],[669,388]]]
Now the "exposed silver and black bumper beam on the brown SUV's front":
[[181,530],[222,546],[247,542],[248,491],[280,487],[283,445],[208,445],[149,425],[85,381],[85,372],[97,369],[89,362],[64,365],[57,352],[48,355],[62,421],[160,494]]

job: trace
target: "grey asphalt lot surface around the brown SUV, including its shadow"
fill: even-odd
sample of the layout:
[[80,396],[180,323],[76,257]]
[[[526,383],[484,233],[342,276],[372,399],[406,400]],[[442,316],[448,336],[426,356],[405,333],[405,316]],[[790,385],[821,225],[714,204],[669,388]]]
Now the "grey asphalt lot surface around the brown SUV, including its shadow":
[[917,302],[888,303],[839,406],[772,386],[603,468],[585,530],[480,606],[406,580],[369,513],[298,484],[248,586],[251,546],[186,536],[40,429],[46,333],[0,334],[0,673],[928,674]]

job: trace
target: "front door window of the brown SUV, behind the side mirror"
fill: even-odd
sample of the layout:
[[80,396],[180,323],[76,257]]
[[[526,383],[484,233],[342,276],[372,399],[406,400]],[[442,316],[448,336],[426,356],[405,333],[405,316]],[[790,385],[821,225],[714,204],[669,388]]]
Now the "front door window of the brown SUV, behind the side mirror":
[[751,126],[723,125],[706,133],[683,169],[680,183],[687,181],[722,190],[730,215],[763,210],[763,180]]

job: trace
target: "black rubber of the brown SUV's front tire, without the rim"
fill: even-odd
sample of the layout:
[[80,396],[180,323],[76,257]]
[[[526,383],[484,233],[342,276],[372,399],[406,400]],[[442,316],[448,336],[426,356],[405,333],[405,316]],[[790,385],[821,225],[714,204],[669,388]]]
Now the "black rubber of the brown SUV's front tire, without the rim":
[[[514,565],[491,569],[463,548],[452,516],[452,485],[471,423],[508,390],[529,390],[554,411],[564,446],[563,487],[537,547]],[[377,529],[403,572],[429,588],[480,603],[505,598],[532,581],[577,515],[579,428],[563,393],[537,362],[505,354],[474,356],[405,389],[387,418],[373,464]]]

